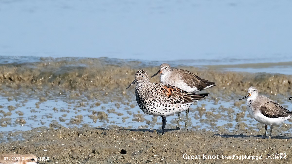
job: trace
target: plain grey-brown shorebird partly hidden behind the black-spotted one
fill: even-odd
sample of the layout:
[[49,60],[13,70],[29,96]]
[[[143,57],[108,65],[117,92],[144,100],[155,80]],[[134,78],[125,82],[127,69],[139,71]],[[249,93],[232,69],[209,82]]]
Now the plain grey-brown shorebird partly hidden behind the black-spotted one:
[[[193,74],[190,71],[178,68],[172,68],[169,64],[163,63],[160,65],[159,71],[152,75],[154,77],[158,74],[160,75],[160,82],[165,84],[170,84],[176,86],[182,90],[190,93],[196,93],[198,91],[211,88],[216,86],[215,82],[208,81],[200,78],[199,76]],[[187,130],[187,118],[189,116],[189,108],[187,109],[185,130]],[[178,122],[176,124],[176,129],[180,129],[179,126],[180,113],[178,113]]]

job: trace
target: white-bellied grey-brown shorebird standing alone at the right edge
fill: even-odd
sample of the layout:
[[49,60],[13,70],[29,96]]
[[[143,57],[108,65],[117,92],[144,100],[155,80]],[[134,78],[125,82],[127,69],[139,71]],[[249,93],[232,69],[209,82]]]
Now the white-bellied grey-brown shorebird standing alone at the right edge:
[[265,137],[268,125],[271,126],[269,136],[271,138],[274,125],[281,125],[284,121],[292,119],[291,111],[265,96],[259,96],[258,90],[255,87],[248,88],[248,94],[239,100],[245,98],[247,98],[246,104],[251,117],[265,124]]

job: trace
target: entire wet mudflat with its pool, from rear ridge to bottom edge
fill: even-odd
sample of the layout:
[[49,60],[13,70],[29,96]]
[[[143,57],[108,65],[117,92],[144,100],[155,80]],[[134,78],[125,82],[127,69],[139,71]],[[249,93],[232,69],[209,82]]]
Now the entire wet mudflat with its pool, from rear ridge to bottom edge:
[[[275,127],[272,139],[263,139],[264,125],[249,116],[244,100],[238,100],[255,86],[291,110],[291,75],[179,67],[218,86],[201,91],[211,95],[191,106],[189,131],[166,130],[160,135],[161,118],[143,114],[134,87],[126,90],[138,69],[152,75],[159,67],[141,63],[42,58],[1,64],[0,153],[49,158],[40,163],[238,163],[242,155],[262,158],[241,158],[244,163],[291,162],[291,122]],[[181,128],[184,116],[183,112]],[[166,129],[175,128],[176,118],[167,117]],[[276,159],[266,156],[269,153]],[[184,159],[183,154],[201,158]],[[203,159],[203,154],[216,159]],[[237,159],[221,160],[217,155]]]

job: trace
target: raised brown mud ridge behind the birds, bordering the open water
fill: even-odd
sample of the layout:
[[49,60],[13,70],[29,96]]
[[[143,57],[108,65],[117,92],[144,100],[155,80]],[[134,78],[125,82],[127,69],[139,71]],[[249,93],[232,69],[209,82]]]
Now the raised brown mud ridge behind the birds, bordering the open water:
[[[0,64],[0,85],[2,88],[22,89],[22,92],[38,90],[78,90],[102,91],[127,95],[134,89],[126,87],[134,80],[137,70],[145,69],[153,75],[159,69],[143,67],[139,61],[107,60],[107,58],[41,58],[42,62],[22,64]],[[284,74],[248,73],[232,71],[216,71],[214,69],[196,67],[178,67],[187,69],[199,77],[216,82],[212,93],[220,95],[246,94],[250,86],[258,88],[262,94],[292,95],[292,76]],[[159,82],[159,76],[151,78]],[[132,87],[134,88],[134,87]],[[7,95],[9,95],[7,93]],[[78,95],[75,95],[78,96]],[[11,99],[11,97],[8,99]],[[46,101],[40,97],[40,101]]]

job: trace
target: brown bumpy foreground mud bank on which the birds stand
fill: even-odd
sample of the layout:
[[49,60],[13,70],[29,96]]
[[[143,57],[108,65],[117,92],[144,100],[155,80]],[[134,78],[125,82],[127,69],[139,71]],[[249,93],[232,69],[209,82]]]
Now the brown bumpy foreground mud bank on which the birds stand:
[[[249,133],[166,130],[161,135],[147,129],[58,128],[23,141],[1,144],[0,153],[49,157],[40,163],[291,163],[291,138],[291,134],[285,134],[264,139],[256,130]],[[275,153],[285,153],[286,159],[268,158],[268,154]],[[204,154],[219,158],[203,159]],[[201,158],[184,159],[186,155]]]

